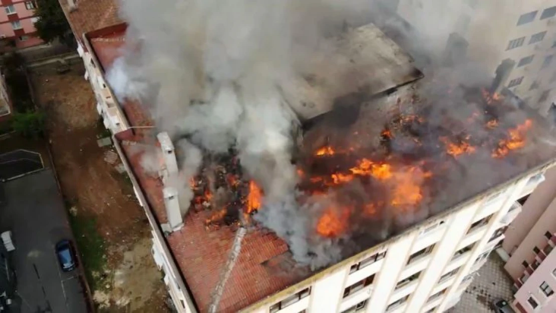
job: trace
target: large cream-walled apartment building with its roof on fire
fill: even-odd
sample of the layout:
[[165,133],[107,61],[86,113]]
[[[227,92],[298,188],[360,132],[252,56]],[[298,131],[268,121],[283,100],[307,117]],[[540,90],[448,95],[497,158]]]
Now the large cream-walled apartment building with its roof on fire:
[[373,24],[326,37],[329,62],[273,82],[280,116],[242,107],[255,133],[214,148],[205,135],[222,121],[187,127],[249,90],[199,93],[185,127],[157,129],[148,97],[104,78],[125,32],[85,34],[83,59],[179,312],[444,311],[556,162],[541,118],[453,73],[423,77]]

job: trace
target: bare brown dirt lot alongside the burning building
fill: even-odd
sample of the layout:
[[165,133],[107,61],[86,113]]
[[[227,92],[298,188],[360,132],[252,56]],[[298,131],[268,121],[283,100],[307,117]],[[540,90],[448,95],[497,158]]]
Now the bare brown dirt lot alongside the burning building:
[[66,74],[31,73],[37,102],[47,113],[53,161],[93,299],[104,312],[168,312],[161,273],[150,254],[150,227],[111,147],[82,65]]

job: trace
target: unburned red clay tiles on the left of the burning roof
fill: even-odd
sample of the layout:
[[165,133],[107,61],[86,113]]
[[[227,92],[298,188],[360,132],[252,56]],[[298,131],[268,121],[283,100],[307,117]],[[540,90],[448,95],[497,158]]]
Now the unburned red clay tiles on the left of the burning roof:
[[[120,51],[118,48],[123,41],[115,39],[122,36],[121,32],[108,32],[90,38],[93,52],[103,68],[109,67],[117,57],[117,52]],[[147,118],[136,103],[125,103],[123,108],[131,125],[138,125],[142,119]],[[142,141],[139,136],[127,138],[126,142],[122,142],[122,147],[158,222],[164,223],[166,210],[162,198],[163,183],[160,178],[150,177],[142,171],[141,152],[137,148]],[[210,213],[191,210],[185,217],[185,226],[167,237],[177,266],[200,312],[206,312],[211,304],[212,292],[226,265],[237,227],[207,230],[205,221]],[[226,282],[217,311],[236,312],[309,275],[307,269],[295,267],[283,240],[272,232],[260,228],[250,229],[242,240],[240,255]]]

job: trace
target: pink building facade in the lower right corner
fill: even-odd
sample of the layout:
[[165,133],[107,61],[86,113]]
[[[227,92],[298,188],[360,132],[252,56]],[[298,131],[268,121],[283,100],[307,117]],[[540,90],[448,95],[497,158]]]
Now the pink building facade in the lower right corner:
[[514,280],[514,309],[522,313],[556,312],[556,170],[522,198],[523,210],[505,232],[509,258],[504,269]]

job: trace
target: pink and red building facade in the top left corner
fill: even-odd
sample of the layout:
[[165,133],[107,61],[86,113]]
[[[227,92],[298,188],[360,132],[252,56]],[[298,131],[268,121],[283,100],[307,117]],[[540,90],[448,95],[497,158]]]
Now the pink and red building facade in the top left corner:
[[10,43],[8,47],[27,48],[43,43],[35,36],[34,1],[0,0],[0,3],[0,38]]

